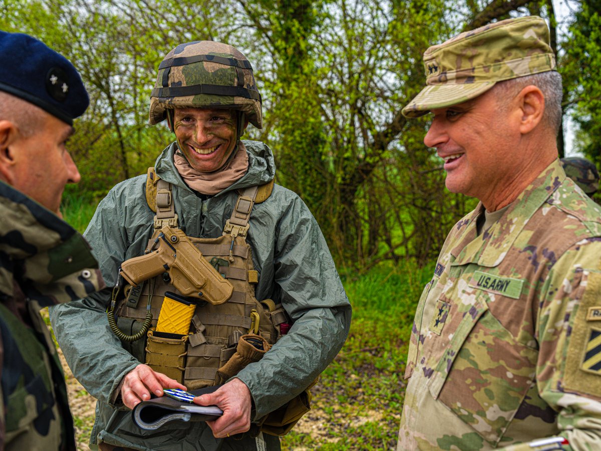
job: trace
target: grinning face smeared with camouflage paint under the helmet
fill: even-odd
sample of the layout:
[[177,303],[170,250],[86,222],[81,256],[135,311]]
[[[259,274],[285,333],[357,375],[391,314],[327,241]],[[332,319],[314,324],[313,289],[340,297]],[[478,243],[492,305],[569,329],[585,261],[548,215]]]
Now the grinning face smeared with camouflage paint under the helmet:
[[175,137],[191,167],[214,172],[236,147],[237,114],[231,109],[175,108]]

